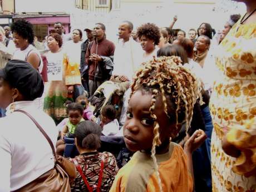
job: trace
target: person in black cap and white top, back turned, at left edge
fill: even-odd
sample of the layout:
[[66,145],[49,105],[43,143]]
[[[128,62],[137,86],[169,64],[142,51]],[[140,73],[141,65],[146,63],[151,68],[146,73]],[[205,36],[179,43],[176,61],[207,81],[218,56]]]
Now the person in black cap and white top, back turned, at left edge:
[[37,109],[34,102],[42,96],[43,88],[40,73],[26,61],[11,60],[0,70],[0,107],[7,110],[6,117],[0,118],[0,191],[21,189],[41,175],[51,173],[55,166],[45,137],[27,115],[17,111],[31,115],[56,145],[55,122]]

